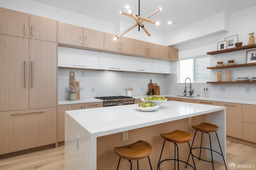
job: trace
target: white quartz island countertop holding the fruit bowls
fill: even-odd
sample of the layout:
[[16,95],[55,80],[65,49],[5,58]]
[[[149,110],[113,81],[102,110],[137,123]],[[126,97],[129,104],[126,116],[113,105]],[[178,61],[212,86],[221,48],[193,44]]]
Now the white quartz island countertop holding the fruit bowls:
[[135,104],[66,111],[95,137],[224,110],[225,107],[167,101],[155,111],[139,111]]

